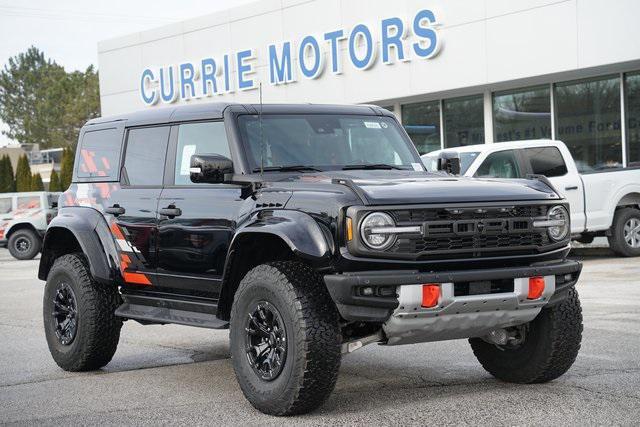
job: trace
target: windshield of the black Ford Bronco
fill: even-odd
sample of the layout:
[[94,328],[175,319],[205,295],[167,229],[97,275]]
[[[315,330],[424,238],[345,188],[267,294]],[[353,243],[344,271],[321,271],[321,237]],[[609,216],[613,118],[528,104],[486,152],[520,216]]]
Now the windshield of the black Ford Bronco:
[[238,118],[240,135],[254,172],[407,169],[424,170],[411,142],[389,117],[354,115],[257,115]]

